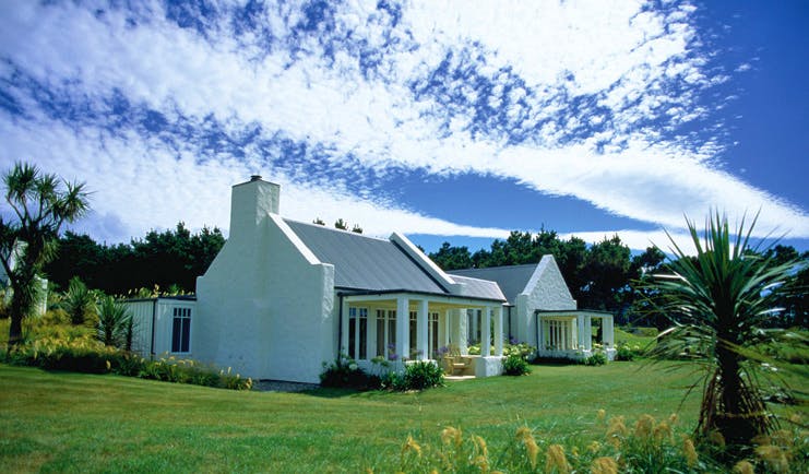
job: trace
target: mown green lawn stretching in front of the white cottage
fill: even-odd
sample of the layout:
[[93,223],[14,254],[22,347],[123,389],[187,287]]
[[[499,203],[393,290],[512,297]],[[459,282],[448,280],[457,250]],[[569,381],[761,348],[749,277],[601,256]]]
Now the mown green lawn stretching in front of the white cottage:
[[[388,472],[407,435],[433,442],[456,426],[492,450],[520,426],[540,440],[596,439],[598,408],[667,417],[691,380],[682,366],[533,368],[423,393],[262,393],[0,365],[0,463],[5,472]],[[697,403],[682,406],[682,431]]]

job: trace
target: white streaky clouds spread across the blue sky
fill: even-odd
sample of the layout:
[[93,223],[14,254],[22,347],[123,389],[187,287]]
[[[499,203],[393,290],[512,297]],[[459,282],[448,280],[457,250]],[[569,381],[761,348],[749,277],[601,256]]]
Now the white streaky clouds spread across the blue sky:
[[[350,3],[338,11],[337,28],[371,46],[384,45],[390,31],[368,21],[374,3]],[[575,197],[612,214],[674,228],[682,227],[683,213],[704,215],[713,208],[740,215],[761,209],[762,232],[786,226],[795,237],[809,237],[805,210],[717,168],[712,143],[667,142],[661,130],[645,125],[661,109],[674,126],[704,116],[709,110],[697,105],[694,94],[727,78],[709,78],[702,69],[705,58],[693,48],[697,33],[689,24],[693,7],[657,13],[642,5],[416,2],[404,10],[402,27],[392,32],[408,46],[384,52],[381,79],[362,75],[356,56],[345,51],[337,51],[334,62],[307,54],[321,48],[312,38],[304,40],[305,51],[295,60],[289,50],[276,48],[255,62],[254,45],[222,34],[207,40],[165,20],[156,3],[147,5],[155,12],[150,22],[136,27],[128,27],[120,12],[98,20],[91,9],[73,3],[2,3],[0,54],[74,99],[98,103],[117,90],[169,120],[212,115],[231,132],[257,123],[264,135],[282,131],[292,140],[324,144],[334,153],[316,158],[322,163],[313,165],[323,173],[358,167],[360,174],[371,169],[383,177],[396,166],[435,175],[513,178],[540,193]],[[294,23],[266,14],[279,37]],[[533,94],[524,97],[523,90],[514,90],[512,98],[542,105],[533,120],[547,121],[534,140],[512,145],[495,137],[473,138],[468,114],[452,117],[444,132],[441,117],[426,114],[435,111],[435,103],[413,97],[409,81],[428,75],[448,51],[473,43],[486,56],[480,73],[512,67]],[[5,64],[0,67],[3,78],[12,74]],[[663,86],[667,81],[691,88],[675,95]],[[467,90],[469,96],[477,94]],[[559,91],[568,97],[593,95],[609,117],[562,120],[568,104],[557,97]],[[14,96],[32,109],[31,97]],[[499,105],[500,98],[490,98],[490,104]],[[44,112],[34,115],[31,121],[0,117],[5,156],[36,156],[57,173],[86,177],[97,191],[99,215],[121,216],[132,235],[178,220],[192,226],[224,225],[229,186],[269,163],[255,146],[245,149],[245,159],[200,161],[192,146],[170,150],[132,130],[123,138],[93,127],[74,132],[45,119]],[[516,117],[517,109],[509,115]],[[578,122],[606,128],[571,140]],[[598,151],[602,141],[606,144]],[[355,161],[348,162],[346,154]],[[286,179],[277,169],[264,175]],[[340,175],[333,180],[333,190],[352,189]],[[322,189],[316,179],[284,185],[292,203],[284,209],[300,220],[343,217],[374,234],[504,235],[502,229],[433,220],[369,194]]]

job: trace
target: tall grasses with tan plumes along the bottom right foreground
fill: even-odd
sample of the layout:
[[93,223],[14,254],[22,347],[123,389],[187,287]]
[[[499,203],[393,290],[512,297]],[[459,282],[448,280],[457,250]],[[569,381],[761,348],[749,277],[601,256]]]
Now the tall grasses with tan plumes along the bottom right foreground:
[[[447,426],[432,442],[408,435],[401,448],[397,472],[531,472],[594,474],[772,472],[802,473],[809,464],[809,443],[799,429],[762,438],[749,457],[723,461],[721,438],[695,445],[675,434],[677,417],[656,420],[644,414],[627,426],[623,416],[604,419],[598,411],[599,437],[559,437],[536,432],[528,426],[515,429],[504,445],[489,446],[483,436]],[[746,471],[749,469],[749,471]]]

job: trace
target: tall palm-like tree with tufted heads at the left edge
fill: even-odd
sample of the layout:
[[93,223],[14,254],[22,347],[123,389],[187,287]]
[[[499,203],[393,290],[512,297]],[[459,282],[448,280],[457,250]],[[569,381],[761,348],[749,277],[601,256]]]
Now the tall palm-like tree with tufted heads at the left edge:
[[3,175],[12,220],[0,216],[0,264],[12,289],[9,347],[22,342],[22,321],[40,298],[36,284],[43,266],[53,259],[62,224],[87,212],[84,183],[61,181],[34,165],[17,163]]

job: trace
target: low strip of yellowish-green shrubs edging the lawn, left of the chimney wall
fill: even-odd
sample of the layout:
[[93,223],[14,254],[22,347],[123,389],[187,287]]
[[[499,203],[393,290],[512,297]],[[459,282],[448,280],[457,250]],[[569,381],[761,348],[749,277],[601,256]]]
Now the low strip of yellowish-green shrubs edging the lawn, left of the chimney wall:
[[43,337],[0,353],[0,362],[47,370],[69,370],[84,374],[116,374],[126,377],[192,383],[233,390],[250,390],[252,379],[242,379],[212,366],[174,356],[150,360],[136,354],[105,346],[90,337],[61,340]]

